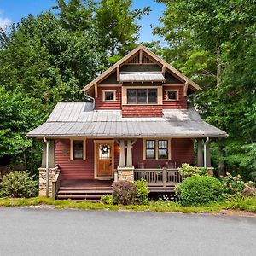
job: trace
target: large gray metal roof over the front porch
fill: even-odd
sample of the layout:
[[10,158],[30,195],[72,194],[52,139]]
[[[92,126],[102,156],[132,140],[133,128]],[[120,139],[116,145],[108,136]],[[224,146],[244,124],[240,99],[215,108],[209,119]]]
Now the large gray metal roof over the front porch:
[[59,102],[27,137],[226,137],[194,108],[163,110],[161,118],[122,118],[120,110],[93,110],[92,102]]

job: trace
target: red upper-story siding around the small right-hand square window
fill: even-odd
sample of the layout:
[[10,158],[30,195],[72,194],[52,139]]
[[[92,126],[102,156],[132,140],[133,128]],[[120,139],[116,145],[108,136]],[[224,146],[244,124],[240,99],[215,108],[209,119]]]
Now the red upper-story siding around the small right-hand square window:
[[[178,90],[178,101],[166,101],[166,90]],[[172,109],[172,108],[182,108],[186,109],[187,106],[187,97],[184,96],[184,88],[181,86],[164,86],[163,87],[163,108]]]

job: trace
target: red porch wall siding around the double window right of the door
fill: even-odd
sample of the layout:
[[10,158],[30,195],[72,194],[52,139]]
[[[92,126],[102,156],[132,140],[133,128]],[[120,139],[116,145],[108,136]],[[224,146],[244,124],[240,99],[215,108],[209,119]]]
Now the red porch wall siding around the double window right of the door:
[[[182,163],[194,163],[194,143],[191,139],[181,138],[171,140],[171,156],[172,162],[176,162],[176,166]],[[139,167],[139,163],[143,163],[145,168],[157,168],[157,166],[166,166],[166,162],[171,160],[143,160],[143,139],[138,139],[132,148],[132,161],[135,168]]]

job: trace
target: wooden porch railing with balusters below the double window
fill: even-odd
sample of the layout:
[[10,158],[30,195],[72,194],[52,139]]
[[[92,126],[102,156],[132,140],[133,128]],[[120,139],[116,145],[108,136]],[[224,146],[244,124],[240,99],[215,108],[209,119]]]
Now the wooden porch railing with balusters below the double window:
[[135,169],[134,179],[145,179],[148,186],[167,187],[181,183],[184,177],[177,169]]

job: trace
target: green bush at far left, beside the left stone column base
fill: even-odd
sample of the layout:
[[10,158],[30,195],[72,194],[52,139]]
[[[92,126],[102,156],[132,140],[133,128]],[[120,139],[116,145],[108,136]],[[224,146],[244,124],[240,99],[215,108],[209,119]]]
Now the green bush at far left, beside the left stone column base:
[[28,172],[14,171],[3,176],[0,197],[33,197],[38,195],[38,182]]

